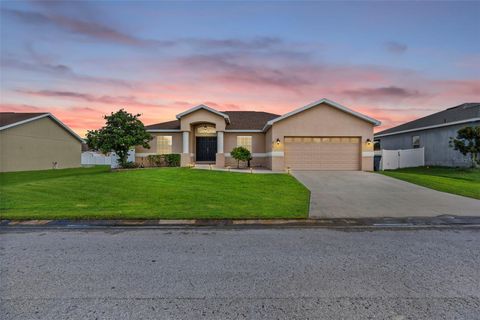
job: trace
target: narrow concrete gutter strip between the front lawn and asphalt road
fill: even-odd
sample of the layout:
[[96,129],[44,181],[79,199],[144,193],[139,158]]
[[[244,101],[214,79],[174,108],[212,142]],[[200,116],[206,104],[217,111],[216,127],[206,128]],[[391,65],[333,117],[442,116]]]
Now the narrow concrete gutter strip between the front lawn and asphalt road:
[[480,227],[480,216],[438,216],[360,219],[272,219],[272,220],[0,220],[1,229],[9,228],[105,228],[105,227],[321,227],[321,228],[411,228]]

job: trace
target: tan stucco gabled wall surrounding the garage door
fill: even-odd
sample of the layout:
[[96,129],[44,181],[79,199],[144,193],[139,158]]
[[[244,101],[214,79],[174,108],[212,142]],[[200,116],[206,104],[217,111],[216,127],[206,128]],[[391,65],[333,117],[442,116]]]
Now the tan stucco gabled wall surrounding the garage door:
[[[373,152],[373,143],[368,146],[366,140],[373,141],[373,124],[349,113],[321,104],[306,111],[273,124],[271,138],[280,139],[280,145],[273,143],[273,151],[284,152],[286,136],[339,136],[360,137],[362,152]],[[268,149],[268,146],[267,146]],[[272,170],[282,171],[285,168],[284,157],[272,157]],[[361,169],[373,169],[373,156],[361,156]]]

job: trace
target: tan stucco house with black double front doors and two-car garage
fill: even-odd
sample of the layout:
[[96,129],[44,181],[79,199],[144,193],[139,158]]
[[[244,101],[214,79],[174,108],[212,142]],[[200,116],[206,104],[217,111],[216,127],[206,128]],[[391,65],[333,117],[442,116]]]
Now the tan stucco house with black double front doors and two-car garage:
[[150,154],[181,154],[181,165],[236,166],[230,151],[244,146],[252,166],[275,171],[373,170],[373,127],[380,122],[321,99],[283,116],[256,111],[217,111],[199,105],[177,120],[146,126],[151,148],[136,148],[137,161]]

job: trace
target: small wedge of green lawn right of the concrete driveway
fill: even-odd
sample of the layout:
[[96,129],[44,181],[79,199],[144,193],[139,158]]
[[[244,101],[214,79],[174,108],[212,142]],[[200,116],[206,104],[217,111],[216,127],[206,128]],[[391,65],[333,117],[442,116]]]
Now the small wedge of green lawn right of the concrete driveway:
[[480,199],[480,169],[418,167],[381,173],[438,191]]

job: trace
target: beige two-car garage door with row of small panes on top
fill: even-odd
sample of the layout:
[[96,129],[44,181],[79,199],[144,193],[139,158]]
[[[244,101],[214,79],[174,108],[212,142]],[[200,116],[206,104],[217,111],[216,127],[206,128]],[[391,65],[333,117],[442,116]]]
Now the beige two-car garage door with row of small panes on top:
[[285,137],[285,165],[292,170],[360,170],[360,138]]

